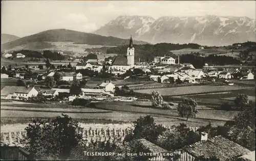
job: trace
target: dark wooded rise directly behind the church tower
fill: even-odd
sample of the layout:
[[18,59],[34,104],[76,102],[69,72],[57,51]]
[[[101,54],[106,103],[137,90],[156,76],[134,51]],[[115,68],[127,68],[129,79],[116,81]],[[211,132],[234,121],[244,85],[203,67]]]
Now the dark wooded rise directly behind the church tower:
[[[173,56],[175,55],[170,52],[171,50],[180,50],[185,48],[198,49],[200,47],[199,44],[196,43],[188,43],[188,44],[174,44],[174,43],[157,43],[157,44],[141,44],[134,45],[136,49],[135,60],[140,58],[141,61],[153,61],[156,56]],[[127,53],[127,45],[123,45],[121,47],[109,48],[106,50],[106,54],[120,54],[126,55]]]

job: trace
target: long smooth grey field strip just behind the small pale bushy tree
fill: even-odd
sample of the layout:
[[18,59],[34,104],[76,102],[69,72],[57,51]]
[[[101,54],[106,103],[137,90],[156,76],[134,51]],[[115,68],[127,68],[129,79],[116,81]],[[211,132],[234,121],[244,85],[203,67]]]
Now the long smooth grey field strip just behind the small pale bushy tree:
[[183,86],[173,88],[160,88],[160,89],[142,89],[136,90],[136,93],[151,94],[153,90],[157,90],[162,96],[181,96],[189,94],[200,93],[214,93],[229,90],[249,89],[251,87],[244,86],[230,86],[230,85],[202,85],[202,86]]

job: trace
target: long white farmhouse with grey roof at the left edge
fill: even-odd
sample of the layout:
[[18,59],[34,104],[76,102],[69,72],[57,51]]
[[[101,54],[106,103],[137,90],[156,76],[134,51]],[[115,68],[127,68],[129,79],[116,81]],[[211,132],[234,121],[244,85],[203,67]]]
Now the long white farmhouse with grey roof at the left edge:
[[19,99],[37,96],[38,91],[34,87],[5,86],[1,90],[1,99]]

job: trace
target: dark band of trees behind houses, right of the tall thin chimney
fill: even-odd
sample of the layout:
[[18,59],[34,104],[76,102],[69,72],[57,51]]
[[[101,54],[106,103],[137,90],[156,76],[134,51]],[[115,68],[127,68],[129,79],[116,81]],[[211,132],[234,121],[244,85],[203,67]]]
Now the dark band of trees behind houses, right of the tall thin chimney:
[[205,63],[214,65],[230,65],[230,64],[241,64],[241,61],[229,57],[219,55],[209,55],[207,57],[200,57],[194,54],[184,54],[180,56],[180,63],[191,63],[195,68],[202,68]]

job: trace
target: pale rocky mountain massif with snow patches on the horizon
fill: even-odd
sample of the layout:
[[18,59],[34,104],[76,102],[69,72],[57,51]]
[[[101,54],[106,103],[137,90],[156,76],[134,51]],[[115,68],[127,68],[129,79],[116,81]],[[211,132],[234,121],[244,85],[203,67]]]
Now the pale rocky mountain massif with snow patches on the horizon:
[[248,17],[118,16],[93,33],[133,38],[151,43],[198,43],[201,45],[230,45],[255,41],[255,19]]

